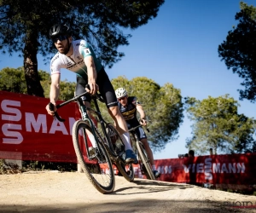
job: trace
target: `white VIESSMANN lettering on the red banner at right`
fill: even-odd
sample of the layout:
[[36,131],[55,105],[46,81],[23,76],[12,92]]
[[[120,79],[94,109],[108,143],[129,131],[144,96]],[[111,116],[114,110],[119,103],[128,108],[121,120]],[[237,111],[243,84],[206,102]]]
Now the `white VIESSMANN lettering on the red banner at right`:
[[[228,165],[228,166],[227,166]],[[205,173],[206,180],[212,180],[212,173],[244,173],[246,170],[244,163],[212,163],[212,158],[206,158],[205,164],[189,164],[188,166],[183,164],[183,169],[185,173]]]

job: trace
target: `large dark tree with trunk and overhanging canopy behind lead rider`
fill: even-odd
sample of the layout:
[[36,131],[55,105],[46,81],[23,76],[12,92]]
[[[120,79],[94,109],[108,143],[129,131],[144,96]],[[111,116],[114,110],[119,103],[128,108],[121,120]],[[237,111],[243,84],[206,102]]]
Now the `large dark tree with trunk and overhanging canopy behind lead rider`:
[[136,29],[155,18],[164,0],[130,1],[49,1],[1,0],[0,49],[3,53],[21,52],[28,95],[44,96],[38,77],[37,55],[55,52],[49,41],[49,28],[57,22],[72,26],[73,37],[84,37],[96,50],[104,66],[113,66],[124,56],[119,45],[128,45],[130,34],[122,28]]

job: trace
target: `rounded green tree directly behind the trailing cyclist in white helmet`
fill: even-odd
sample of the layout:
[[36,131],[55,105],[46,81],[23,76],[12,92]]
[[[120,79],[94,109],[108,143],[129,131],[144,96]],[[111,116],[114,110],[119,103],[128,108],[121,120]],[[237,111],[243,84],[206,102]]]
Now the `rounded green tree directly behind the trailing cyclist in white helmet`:
[[137,100],[143,104],[149,120],[148,141],[154,151],[164,149],[168,142],[177,139],[179,126],[183,123],[183,103],[179,89],[171,83],[160,87],[145,77],[132,78],[130,81],[118,77],[113,78],[112,83],[114,89],[124,87],[128,95],[137,96]]

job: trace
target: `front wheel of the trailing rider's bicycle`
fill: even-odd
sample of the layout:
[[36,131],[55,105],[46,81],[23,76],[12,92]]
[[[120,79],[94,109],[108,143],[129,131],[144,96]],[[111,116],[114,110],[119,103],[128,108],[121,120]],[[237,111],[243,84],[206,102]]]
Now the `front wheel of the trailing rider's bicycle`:
[[146,150],[143,146],[143,143],[141,141],[137,141],[136,146],[137,146],[137,151],[141,161],[141,167],[142,167],[141,169],[143,170],[144,174],[147,176],[148,179],[155,180],[154,173],[152,171],[152,166],[150,164],[150,161],[146,153]]

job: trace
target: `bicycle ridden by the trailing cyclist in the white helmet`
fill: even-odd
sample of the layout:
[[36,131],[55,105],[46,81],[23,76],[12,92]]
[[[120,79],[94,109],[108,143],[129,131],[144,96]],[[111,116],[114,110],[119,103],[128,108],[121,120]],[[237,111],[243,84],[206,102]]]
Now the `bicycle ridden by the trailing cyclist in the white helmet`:
[[[152,170],[152,165],[150,164],[150,160],[148,158],[148,154],[145,150],[143,142],[139,141],[137,134],[135,132],[135,130],[141,126],[143,126],[143,125],[141,124],[136,127],[133,127],[129,130],[129,132],[131,133],[131,135],[136,143],[137,158],[138,158],[137,160],[138,160],[138,165],[140,167],[140,170],[142,170],[142,173],[147,177],[147,179],[155,180],[154,173]],[[149,132],[148,128],[146,130]]]

